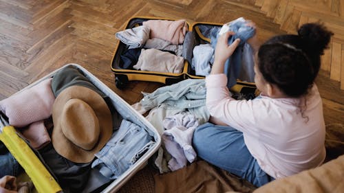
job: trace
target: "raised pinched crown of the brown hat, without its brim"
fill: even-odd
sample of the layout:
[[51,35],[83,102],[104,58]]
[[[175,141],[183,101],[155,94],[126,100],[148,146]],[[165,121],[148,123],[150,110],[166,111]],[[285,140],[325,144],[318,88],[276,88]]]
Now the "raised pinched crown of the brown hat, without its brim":
[[61,128],[65,137],[84,150],[92,150],[100,137],[98,117],[89,104],[72,98],[63,106]]

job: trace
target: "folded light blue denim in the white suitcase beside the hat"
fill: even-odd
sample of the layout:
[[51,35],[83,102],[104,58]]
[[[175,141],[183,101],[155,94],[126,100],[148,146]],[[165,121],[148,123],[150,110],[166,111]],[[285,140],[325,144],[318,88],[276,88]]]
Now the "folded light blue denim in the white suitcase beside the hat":
[[155,144],[152,139],[144,128],[122,120],[120,128],[96,153],[98,159],[92,163],[92,168],[97,168],[109,179],[117,179]]

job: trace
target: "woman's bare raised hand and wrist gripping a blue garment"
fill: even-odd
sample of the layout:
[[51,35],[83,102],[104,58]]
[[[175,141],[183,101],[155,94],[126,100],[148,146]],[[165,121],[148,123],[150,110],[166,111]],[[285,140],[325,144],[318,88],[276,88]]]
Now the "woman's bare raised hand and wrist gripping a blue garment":
[[224,73],[224,63],[232,56],[233,52],[240,43],[240,39],[237,38],[232,44],[228,45],[229,36],[234,35],[234,32],[226,32],[217,38],[217,44],[215,47],[215,58],[211,73]]

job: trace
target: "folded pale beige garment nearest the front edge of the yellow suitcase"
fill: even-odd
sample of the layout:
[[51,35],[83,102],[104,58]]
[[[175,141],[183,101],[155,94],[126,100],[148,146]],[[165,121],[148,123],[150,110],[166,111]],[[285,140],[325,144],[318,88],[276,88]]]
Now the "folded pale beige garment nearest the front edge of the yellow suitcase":
[[138,63],[133,68],[142,71],[181,73],[183,66],[184,58],[181,56],[158,49],[142,49]]

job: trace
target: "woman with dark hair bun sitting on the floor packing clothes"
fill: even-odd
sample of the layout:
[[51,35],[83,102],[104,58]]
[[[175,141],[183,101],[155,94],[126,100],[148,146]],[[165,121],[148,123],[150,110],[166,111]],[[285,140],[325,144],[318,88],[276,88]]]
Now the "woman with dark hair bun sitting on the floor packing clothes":
[[332,32],[308,23],[298,35],[275,36],[260,47],[257,36],[249,39],[257,51],[255,83],[261,91],[255,100],[234,100],[226,88],[224,64],[240,41],[228,45],[230,35],[219,36],[206,77],[213,124],[195,130],[197,155],[257,186],[321,165],[325,123],[314,79]]

